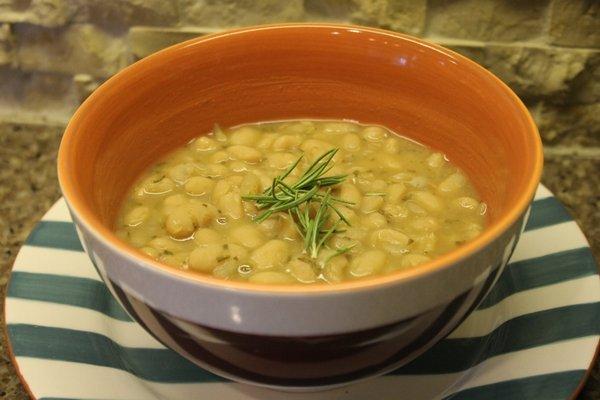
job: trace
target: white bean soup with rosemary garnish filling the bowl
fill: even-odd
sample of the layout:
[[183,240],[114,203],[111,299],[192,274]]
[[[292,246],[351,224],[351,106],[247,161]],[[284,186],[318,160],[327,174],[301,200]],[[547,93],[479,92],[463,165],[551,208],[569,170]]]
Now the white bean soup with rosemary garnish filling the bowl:
[[473,239],[486,206],[443,154],[380,126],[244,125],[152,166],[120,238],[222,279],[336,283],[411,268]]

